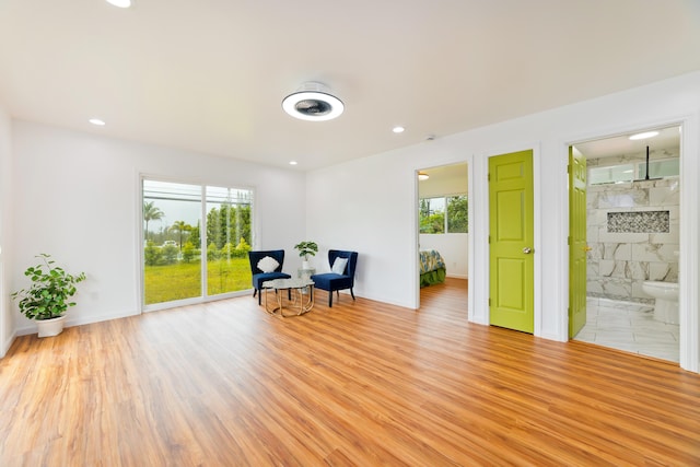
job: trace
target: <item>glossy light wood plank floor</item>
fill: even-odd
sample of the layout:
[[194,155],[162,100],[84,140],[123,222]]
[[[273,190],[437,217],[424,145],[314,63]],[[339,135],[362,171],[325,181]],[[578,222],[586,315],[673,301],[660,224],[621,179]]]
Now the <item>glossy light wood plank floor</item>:
[[467,283],[413,312],[250,296],[19,338],[1,466],[700,465],[700,375],[467,323]]

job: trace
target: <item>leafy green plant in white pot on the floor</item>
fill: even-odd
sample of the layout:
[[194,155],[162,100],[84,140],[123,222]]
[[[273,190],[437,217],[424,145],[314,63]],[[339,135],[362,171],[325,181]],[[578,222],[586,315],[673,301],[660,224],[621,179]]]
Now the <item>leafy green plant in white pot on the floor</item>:
[[42,253],[36,256],[42,259],[37,266],[24,271],[24,276],[32,279],[32,284],[12,293],[13,300],[19,300],[20,313],[36,320],[38,337],[58,336],[63,330],[65,313],[75,302],[69,299],[75,293],[75,284],[85,280],[85,273],[70,275],[62,268],[55,266],[50,255]]

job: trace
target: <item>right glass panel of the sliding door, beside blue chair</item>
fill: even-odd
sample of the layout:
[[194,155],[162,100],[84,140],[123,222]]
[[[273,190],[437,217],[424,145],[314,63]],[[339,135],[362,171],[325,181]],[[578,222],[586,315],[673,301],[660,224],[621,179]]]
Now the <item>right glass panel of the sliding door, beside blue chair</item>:
[[249,190],[207,187],[207,294],[250,288]]

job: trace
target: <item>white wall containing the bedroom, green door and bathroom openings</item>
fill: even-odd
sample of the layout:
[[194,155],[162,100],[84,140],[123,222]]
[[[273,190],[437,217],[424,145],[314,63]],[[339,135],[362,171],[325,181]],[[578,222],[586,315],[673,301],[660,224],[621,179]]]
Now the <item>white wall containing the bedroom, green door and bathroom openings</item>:
[[[535,335],[568,339],[568,145],[660,124],[684,121],[681,199],[681,366],[698,371],[700,255],[697,211],[700,73],[439,138],[308,174],[307,236],[360,252],[355,292],[409,308],[416,291],[415,171],[469,162],[469,318],[488,323],[488,156],[534,150]],[[410,131],[410,129],[409,129]],[[471,160],[470,160],[471,157]],[[387,174],[392,174],[388,176]],[[682,180],[681,180],[682,183]],[[685,200],[685,201],[684,201]],[[695,200],[695,201],[692,201]],[[691,207],[691,201],[692,206]]]

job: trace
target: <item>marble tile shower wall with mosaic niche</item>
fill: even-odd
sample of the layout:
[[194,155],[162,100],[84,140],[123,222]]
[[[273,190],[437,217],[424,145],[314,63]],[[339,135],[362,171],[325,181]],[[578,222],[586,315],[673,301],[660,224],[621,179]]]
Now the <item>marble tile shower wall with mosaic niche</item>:
[[678,177],[587,188],[587,294],[653,303],[645,280],[678,282]]

